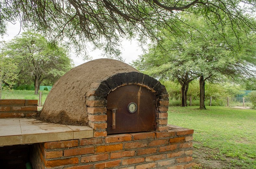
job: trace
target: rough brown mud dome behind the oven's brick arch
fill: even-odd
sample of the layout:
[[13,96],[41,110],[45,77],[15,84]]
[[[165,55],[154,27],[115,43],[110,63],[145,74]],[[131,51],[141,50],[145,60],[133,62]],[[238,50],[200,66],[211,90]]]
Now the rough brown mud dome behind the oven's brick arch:
[[85,96],[89,86],[125,72],[138,71],[113,59],[96,59],[71,69],[53,85],[40,117],[53,123],[87,126]]

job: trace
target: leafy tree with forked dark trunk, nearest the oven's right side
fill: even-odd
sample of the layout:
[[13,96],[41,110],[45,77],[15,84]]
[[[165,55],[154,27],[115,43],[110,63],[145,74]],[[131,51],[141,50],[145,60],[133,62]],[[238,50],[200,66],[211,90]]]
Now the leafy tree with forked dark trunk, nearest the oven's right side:
[[181,85],[181,104],[185,107],[189,83],[198,76],[190,73],[188,67],[191,65],[187,62],[187,56],[179,54],[183,49],[176,43],[172,43],[173,40],[175,39],[171,41],[165,39],[162,44],[151,46],[146,54],[133,62],[133,66],[155,78],[177,80]]

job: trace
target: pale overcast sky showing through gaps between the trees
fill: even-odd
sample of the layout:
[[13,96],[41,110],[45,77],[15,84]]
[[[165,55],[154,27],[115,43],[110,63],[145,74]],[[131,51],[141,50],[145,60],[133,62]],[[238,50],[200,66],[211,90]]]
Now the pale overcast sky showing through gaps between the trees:
[[[19,31],[20,31],[19,29],[20,29],[19,23],[16,23],[15,25],[9,24],[7,28],[7,34],[4,37],[0,37],[0,40],[8,41],[10,39],[13,39],[15,36],[19,34]],[[23,32],[23,30],[21,30],[21,32]],[[136,40],[133,40],[133,41],[123,40],[121,46],[122,46],[121,56],[125,60],[125,63],[128,63],[128,64],[131,63],[133,60],[136,60],[138,56],[143,53],[142,49],[139,47]],[[89,55],[93,59],[103,58],[100,50],[95,50],[95,51],[88,50],[88,51],[89,51]],[[78,57],[74,52],[70,52],[70,56],[73,59],[75,66],[78,66],[84,62],[88,62],[88,60],[84,61],[82,56]]]

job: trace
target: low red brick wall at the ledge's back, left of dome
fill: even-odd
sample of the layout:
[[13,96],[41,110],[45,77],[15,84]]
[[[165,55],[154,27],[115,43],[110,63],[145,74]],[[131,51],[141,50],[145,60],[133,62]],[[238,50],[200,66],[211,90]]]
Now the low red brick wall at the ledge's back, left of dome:
[[35,116],[37,100],[0,99],[0,118]]

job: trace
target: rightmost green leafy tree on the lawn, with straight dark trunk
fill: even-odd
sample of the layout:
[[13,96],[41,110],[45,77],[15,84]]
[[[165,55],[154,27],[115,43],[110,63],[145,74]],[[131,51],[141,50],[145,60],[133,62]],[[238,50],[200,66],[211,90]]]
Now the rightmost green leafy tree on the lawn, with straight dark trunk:
[[[205,109],[205,81],[219,81],[222,76],[230,79],[238,79],[255,76],[256,71],[251,69],[256,65],[255,56],[255,35],[251,33],[234,34],[231,29],[226,29],[220,34],[218,29],[211,29],[202,18],[187,17],[191,27],[179,25],[181,31],[191,32],[190,35],[173,36],[166,32],[162,35],[162,41],[150,48],[152,51],[136,61],[137,65],[147,65],[147,70],[155,74],[175,77],[177,74],[182,77],[186,73],[190,77],[199,77],[200,85],[200,109]],[[196,28],[198,31],[195,31]],[[238,43],[239,39],[243,43]],[[164,49],[164,50],[163,50]],[[149,57],[150,56],[150,57]],[[159,65],[149,65],[152,58],[159,62]],[[182,62],[179,62],[182,61]],[[176,64],[176,63],[179,64]],[[179,72],[177,73],[178,70]],[[181,71],[183,70],[183,71]],[[186,71],[184,71],[186,70]]]

